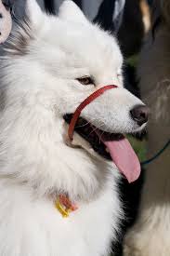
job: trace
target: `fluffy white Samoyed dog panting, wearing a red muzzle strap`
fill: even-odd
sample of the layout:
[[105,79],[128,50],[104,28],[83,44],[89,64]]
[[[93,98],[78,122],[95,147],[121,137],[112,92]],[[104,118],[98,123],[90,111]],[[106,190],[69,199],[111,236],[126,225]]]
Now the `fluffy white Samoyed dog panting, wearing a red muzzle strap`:
[[[123,134],[145,128],[148,109],[123,88],[116,39],[72,1],[58,17],[34,0],[26,12],[1,57],[0,255],[108,255],[124,218],[120,171],[129,182],[140,172]],[[112,84],[70,141],[78,105]]]

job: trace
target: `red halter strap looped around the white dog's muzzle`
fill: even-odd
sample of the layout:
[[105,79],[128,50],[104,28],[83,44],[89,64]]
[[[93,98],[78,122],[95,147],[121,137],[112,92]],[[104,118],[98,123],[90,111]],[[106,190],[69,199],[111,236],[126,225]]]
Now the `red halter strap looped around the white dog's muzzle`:
[[88,96],[85,101],[83,101],[75,110],[73,116],[72,116],[72,120],[69,126],[69,131],[68,131],[68,135],[69,135],[69,139],[72,141],[73,140],[73,131],[76,125],[76,122],[79,118],[79,116],[81,115],[81,112],[83,111],[83,109],[86,107],[86,105],[88,105],[89,103],[91,103],[91,101],[94,101],[95,99],[97,99],[101,94],[103,94],[106,90],[108,89],[112,89],[112,88],[117,88],[117,86],[114,85],[110,85],[110,86],[105,86],[103,88],[99,88],[98,90],[96,90],[94,93],[92,93],[90,96]]

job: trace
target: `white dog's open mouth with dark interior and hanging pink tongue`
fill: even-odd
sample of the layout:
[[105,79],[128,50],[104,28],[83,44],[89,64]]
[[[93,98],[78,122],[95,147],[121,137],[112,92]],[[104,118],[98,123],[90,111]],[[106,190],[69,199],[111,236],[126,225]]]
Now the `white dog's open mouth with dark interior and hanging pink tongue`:
[[[64,120],[70,125],[72,114],[64,115]],[[87,141],[98,155],[112,160],[128,182],[137,180],[140,174],[140,164],[137,155],[123,134],[103,131],[94,127],[83,117],[78,118],[74,131]]]

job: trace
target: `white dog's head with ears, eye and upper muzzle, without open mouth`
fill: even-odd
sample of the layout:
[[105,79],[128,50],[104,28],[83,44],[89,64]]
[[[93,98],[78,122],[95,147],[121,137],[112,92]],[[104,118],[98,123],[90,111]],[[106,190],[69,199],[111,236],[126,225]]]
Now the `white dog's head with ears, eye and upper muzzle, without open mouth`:
[[[123,88],[123,57],[116,39],[86,20],[72,1],[63,3],[58,18],[47,16],[33,0],[28,4],[28,24],[17,29],[8,47],[15,65],[30,81],[22,89],[31,94],[38,90],[36,103],[55,107],[62,118],[98,88],[115,84],[117,89],[92,102],[82,116],[110,132],[144,128],[143,103]],[[142,106],[141,113],[138,105]],[[138,122],[136,111],[132,115],[136,107],[143,122]]]

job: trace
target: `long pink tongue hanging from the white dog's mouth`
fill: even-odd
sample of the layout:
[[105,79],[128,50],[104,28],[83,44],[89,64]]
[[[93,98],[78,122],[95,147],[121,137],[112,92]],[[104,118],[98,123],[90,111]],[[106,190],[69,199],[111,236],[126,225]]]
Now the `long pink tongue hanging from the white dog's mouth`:
[[125,138],[120,141],[106,141],[104,136],[101,140],[107,146],[112,161],[124,174],[127,181],[129,183],[135,182],[140,175],[141,168],[137,155],[129,141]]

